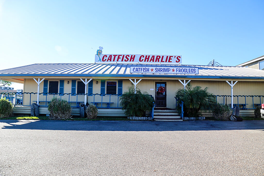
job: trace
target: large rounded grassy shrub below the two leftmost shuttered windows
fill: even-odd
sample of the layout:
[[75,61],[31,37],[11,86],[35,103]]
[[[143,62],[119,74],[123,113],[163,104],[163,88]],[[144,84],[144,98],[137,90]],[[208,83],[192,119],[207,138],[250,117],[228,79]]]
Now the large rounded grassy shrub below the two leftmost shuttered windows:
[[50,119],[52,120],[67,120],[70,119],[72,108],[67,100],[53,98],[48,106]]

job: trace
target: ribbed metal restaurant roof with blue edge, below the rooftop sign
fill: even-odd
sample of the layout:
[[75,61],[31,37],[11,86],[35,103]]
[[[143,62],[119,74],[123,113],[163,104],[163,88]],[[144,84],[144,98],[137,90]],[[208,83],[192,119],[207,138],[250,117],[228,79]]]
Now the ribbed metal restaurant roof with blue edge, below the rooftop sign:
[[[199,74],[130,73],[130,66],[198,67]],[[0,78],[26,76],[78,77],[185,77],[264,79],[264,70],[237,66],[172,65],[172,64],[32,64],[0,70]]]

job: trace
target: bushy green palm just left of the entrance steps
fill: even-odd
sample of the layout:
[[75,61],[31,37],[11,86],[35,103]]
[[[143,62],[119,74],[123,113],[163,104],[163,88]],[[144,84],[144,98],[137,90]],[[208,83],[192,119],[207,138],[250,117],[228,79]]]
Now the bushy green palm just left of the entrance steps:
[[120,104],[122,110],[125,110],[126,116],[143,117],[146,111],[151,111],[153,107],[154,98],[147,92],[141,92],[139,89],[135,89],[133,86],[128,88],[127,92],[120,97]]

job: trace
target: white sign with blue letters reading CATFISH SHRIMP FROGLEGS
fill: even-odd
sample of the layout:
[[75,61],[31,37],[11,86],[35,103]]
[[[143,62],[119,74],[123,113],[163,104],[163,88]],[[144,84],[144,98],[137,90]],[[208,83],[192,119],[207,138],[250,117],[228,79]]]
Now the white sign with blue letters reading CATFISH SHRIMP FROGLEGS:
[[199,74],[197,67],[131,66],[130,73]]

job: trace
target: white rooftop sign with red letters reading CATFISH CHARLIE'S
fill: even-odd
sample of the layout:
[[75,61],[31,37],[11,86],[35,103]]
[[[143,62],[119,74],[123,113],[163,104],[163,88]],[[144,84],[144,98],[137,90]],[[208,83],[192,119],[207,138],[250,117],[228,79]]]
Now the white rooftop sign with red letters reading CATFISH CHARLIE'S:
[[181,55],[96,54],[95,63],[181,64]]

